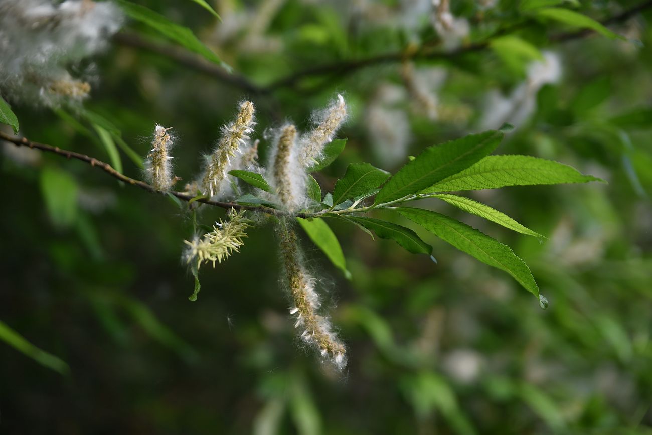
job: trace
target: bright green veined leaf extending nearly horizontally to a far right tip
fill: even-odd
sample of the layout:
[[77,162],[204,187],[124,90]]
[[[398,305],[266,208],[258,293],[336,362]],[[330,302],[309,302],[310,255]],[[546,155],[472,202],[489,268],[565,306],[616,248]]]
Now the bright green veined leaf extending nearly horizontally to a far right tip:
[[604,181],[591,175],[582,175],[572,166],[522,155],[487,156],[479,162],[421,190],[426,192],[453,192],[505,186],[557,185]]

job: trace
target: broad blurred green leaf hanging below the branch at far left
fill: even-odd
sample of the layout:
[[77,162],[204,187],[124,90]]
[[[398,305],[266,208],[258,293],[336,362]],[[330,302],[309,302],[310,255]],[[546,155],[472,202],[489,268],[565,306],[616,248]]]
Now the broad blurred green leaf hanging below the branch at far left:
[[40,173],[40,188],[53,224],[72,225],[77,217],[78,187],[75,179],[57,168],[44,168]]

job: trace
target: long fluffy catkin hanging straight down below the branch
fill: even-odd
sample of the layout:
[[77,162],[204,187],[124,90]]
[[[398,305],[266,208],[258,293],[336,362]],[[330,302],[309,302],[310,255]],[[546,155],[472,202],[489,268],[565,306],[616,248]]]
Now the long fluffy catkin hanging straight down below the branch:
[[326,361],[342,370],[346,367],[346,348],[331,331],[329,319],[318,314],[321,304],[315,291],[316,280],[303,266],[297,233],[288,222],[283,222],[278,233],[287,285],[293,302],[289,312],[295,316],[294,327],[301,331],[304,342],[314,344]]

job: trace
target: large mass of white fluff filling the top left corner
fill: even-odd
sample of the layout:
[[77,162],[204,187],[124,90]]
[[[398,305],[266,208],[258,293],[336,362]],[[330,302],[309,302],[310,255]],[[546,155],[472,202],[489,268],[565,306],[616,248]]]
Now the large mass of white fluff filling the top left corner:
[[105,48],[122,23],[109,2],[0,0],[0,92],[45,106],[82,100],[91,87],[68,68]]

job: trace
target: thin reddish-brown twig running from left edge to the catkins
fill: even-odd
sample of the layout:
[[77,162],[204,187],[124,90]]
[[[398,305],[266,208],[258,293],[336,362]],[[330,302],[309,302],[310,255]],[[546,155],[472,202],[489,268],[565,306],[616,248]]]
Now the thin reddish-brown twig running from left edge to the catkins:
[[[6,134],[5,132],[0,131],[0,140],[5,140],[7,142],[14,143],[16,146],[23,146],[23,147],[29,147],[29,148],[35,148],[35,149],[40,149],[41,151],[48,151],[50,153],[55,153],[57,155],[66,157],[68,159],[70,158],[76,158],[77,160],[82,160],[82,162],[86,162],[90,164],[91,166],[95,166],[96,168],[100,168],[104,172],[108,173],[111,175],[111,177],[115,177],[119,179],[120,181],[123,181],[127,184],[133,185],[133,186],[138,186],[140,188],[143,188],[147,190],[147,192],[152,192],[152,193],[163,193],[159,192],[154,188],[152,185],[149,185],[145,183],[144,181],[140,181],[131,177],[127,177],[123,173],[117,172],[113,167],[106,163],[102,162],[102,160],[98,160],[95,157],[90,157],[88,155],[82,154],[82,153],[76,153],[75,151],[68,151],[66,149],[61,149],[59,147],[53,147],[52,145],[46,145],[45,143],[38,143],[38,142],[31,142],[30,140],[27,140],[26,138],[18,138],[16,136],[11,136],[9,134]],[[193,198],[196,198],[196,196],[184,192],[176,192],[174,190],[170,190],[170,194],[173,196],[176,196],[180,200],[190,202]],[[265,213],[270,213],[273,215],[287,215],[288,213],[280,210],[275,210],[270,207],[265,207],[263,205],[243,205],[243,204],[237,204],[233,202],[221,202],[221,201],[213,201],[208,198],[199,198],[195,200],[196,202],[201,202],[204,204],[208,205],[215,205],[216,207],[222,207],[223,209],[236,209],[236,210],[258,210],[258,211],[263,211]]]

